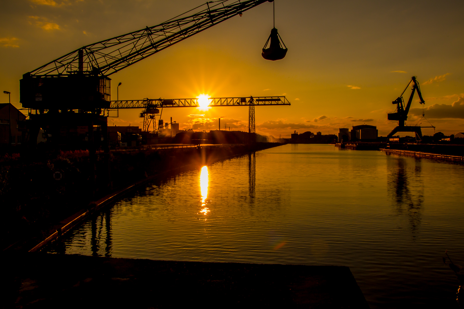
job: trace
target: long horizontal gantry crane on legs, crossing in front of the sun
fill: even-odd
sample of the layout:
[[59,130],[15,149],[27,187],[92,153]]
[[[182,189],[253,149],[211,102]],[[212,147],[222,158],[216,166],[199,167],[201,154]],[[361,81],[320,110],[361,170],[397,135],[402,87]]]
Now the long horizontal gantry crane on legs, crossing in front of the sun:
[[[143,99],[111,101],[111,109],[143,108],[140,117],[143,117],[143,131],[149,131],[149,126],[155,127],[155,114],[161,113],[165,107],[200,107],[197,98],[195,99]],[[216,106],[248,106],[248,132],[256,133],[255,126],[255,106],[271,105],[290,105],[284,96],[259,96],[259,97],[236,97],[236,98],[208,98],[208,107]],[[161,114],[160,114],[161,119]]]

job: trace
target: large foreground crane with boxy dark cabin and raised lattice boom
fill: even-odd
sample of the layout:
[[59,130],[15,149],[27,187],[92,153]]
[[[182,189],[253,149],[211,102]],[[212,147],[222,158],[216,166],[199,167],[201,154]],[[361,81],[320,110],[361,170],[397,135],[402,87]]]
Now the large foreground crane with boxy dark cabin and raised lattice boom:
[[20,102],[29,110],[29,140],[37,136],[39,127],[47,127],[52,139],[63,135],[63,127],[69,126],[88,126],[90,132],[97,125],[104,134],[108,121],[102,111],[111,105],[108,76],[272,1],[210,1],[159,25],[86,45],[24,74]]

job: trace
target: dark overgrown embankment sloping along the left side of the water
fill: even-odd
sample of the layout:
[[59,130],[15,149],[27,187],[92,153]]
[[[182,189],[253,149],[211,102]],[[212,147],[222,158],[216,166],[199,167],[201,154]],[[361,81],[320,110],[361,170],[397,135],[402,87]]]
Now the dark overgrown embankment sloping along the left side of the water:
[[47,151],[0,158],[2,249],[42,237],[57,222],[111,192],[148,176],[211,164],[221,158],[281,145],[215,145],[97,153],[95,182],[89,151]]

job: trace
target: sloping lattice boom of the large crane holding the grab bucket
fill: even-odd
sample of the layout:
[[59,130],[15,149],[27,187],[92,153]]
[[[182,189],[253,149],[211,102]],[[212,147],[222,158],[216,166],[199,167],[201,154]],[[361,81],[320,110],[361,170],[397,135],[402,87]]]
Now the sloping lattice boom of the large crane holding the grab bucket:
[[38,69],[32,76],[65,76],[77,72],[110,76],[165,48],[268,0],[210,1],[164,23],[89,44]]

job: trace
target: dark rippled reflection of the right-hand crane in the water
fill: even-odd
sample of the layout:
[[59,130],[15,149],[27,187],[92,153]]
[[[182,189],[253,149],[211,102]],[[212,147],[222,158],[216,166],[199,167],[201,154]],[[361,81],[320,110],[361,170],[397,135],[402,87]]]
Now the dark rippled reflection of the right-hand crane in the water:
[[[424,203],[421,167],[418,165],[420,161],[416,161],[414,173],[408,171],[406,161],[403,158],[397,158],[395,162],[396,166],[391,167],[388,174],[388,190],[393,197],[398,214],[407,214],[414,231],[420,224]],[[414,179],[411,181],[411,178]]]

